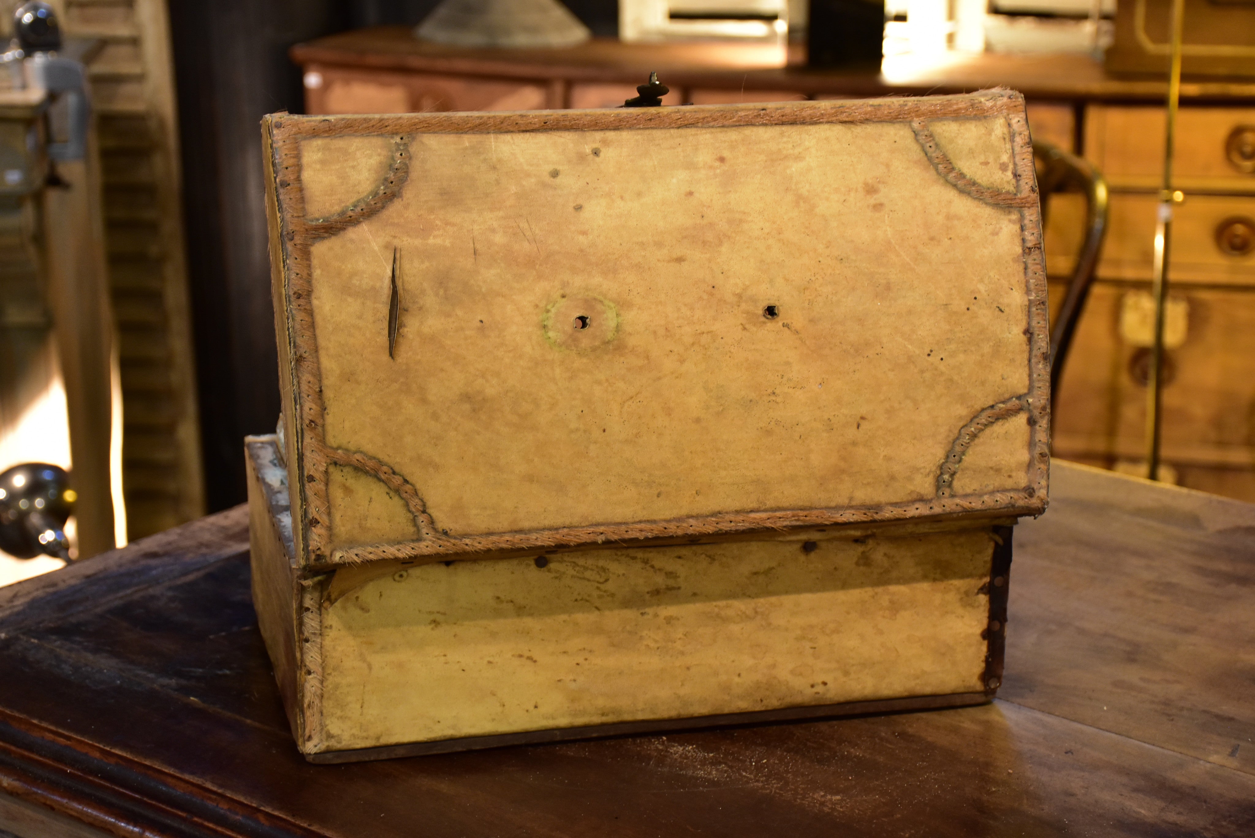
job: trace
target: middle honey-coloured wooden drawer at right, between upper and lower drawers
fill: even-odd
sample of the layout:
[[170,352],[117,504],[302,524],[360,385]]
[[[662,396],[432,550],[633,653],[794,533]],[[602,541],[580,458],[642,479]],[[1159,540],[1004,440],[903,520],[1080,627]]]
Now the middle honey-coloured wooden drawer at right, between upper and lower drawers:
[[[1098,276],[1150,280],[1155,258],[1155,195],[1112,195]],[[1053,195],[1045,230],[1045,265],[1068,275],[1084,230],[1084,199]],[[1201,195],[1177,205],[1170,280],[1255,285],[1255,197]]]

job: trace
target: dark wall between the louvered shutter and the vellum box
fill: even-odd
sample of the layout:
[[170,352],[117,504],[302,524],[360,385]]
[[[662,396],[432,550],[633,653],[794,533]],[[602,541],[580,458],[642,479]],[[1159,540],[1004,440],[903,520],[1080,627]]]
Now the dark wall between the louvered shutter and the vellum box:
[[[438,0],[169,0],[188,229],[188,281],[211,511],[245,500],[242,438],[279,417],[262,185],[262,116],[302,109],[292,44],[414,24]],[[599,35],[615,0],[569,0]]]

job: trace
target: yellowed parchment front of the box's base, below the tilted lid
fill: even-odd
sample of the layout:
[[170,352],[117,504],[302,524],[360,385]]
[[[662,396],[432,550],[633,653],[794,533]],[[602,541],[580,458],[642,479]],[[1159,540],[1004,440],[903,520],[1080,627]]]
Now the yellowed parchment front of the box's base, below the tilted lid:
[[324,599],[320,748],[984,690],[988,529],[808,547],[435,563]]

